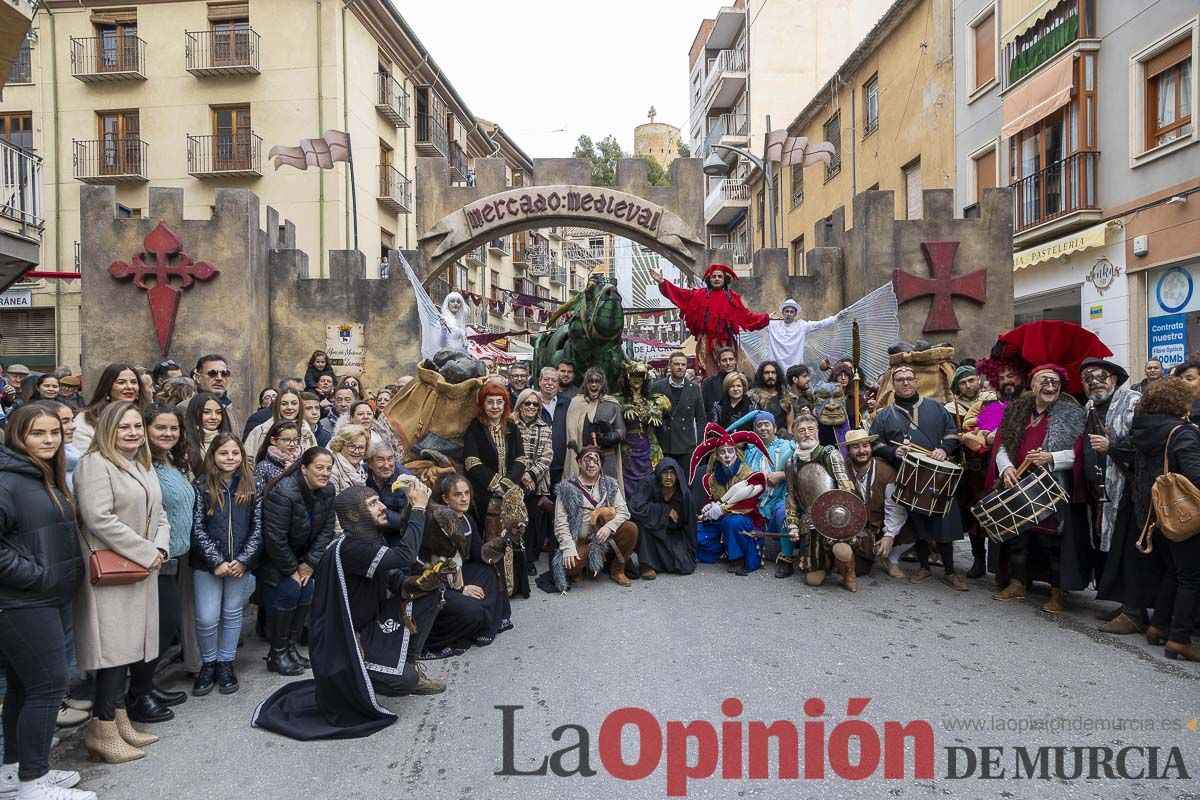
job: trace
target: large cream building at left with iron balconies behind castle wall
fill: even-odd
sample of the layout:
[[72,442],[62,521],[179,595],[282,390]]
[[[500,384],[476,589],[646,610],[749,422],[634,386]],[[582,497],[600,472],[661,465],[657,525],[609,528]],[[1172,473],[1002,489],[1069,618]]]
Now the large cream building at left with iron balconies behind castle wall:
[[[22,77],[0,102],[0,138],[16,131],[44,162],[47,272],[78,272],[88,258],[84,184],[114,186],[130,216],[143,213],[148,186],[181,187],[185,213],[200,218],[217,188],[247,188],[296,224],[298,247],[322,273],[329,249],[355,241],[379,254],[368,259],[373,273],[390,248],[415,247],[418,156],[445,158],[463,185],[479,157],[504,154],[516,182],[533,168],[475,118],[389,0],[48,0]],[[350,134],[353,185],[346,163],[276,170],[269,162],[272,145],[329,128]],[[514,267],[511,258],[486,267],[463,259],[448,283],[488,296],[514,285]],[[535,283],[551,289],[548,276]],[[78,366],[78,281],[32,294],[38,330],[56,343],[38,339],[23,361]]]

